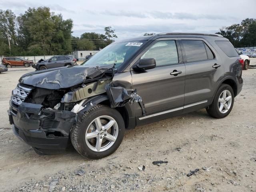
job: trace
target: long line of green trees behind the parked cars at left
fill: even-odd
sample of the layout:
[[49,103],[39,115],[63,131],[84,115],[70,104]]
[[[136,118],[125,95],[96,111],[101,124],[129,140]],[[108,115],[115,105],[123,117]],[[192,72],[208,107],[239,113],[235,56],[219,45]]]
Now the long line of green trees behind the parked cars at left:
[[70,54],[74,50],[99,50],[117,38],[110,26],[105,34],[86,32],[72,36],[72,19],[64,20],[48,7],[28,8],[16,16],[0,10],[0,55],[34,56]]

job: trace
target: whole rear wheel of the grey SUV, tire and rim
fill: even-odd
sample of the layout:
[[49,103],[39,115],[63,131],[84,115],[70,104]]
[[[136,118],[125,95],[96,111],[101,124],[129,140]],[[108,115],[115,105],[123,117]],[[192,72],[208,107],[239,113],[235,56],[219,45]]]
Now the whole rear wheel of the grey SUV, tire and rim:
[[234,104],[234,91],[228,84],[222,84],[215,96],[212,104],[206,108],[208,114],[214,118],[224,118],[231,112]]

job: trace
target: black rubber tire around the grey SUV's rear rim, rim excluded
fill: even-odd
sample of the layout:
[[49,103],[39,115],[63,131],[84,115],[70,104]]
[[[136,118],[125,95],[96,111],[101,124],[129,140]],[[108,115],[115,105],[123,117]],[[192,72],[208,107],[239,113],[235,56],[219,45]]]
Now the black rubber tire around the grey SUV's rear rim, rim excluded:
[[[219,110],[219,97],[224,90],[228,90],[231,93],[232,102],[231,102],[231,106],[228,109],[228,111],[225,113],[221,113]],[[212,116],[214,118],[224,118],[224,117],[228,116],[228,114],[231,112],[233,105],[234,105],[234,91],[233,91],[232,87],[228,84],[221,84],[221,86],[218,88],[218,90],[214,96],[214,100],[213,100],[212,104],[206,108],[206,111],[208,112],[208,114],[210,116]]]

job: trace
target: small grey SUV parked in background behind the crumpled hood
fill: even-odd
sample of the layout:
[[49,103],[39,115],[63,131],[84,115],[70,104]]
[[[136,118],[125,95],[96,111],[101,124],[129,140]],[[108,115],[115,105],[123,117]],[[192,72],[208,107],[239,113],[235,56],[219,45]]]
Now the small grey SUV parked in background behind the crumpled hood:
[[40,59],[35,65],[32,65],[36,70],[45,70],[56,67],[74,66],[76,59],[72,56],[53,56],[48,60]]

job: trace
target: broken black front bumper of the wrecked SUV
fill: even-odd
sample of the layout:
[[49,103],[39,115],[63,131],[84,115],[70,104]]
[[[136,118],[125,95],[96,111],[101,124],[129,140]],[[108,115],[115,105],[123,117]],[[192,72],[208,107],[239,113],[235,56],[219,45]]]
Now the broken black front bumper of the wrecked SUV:
[[[37,149],[64,150],[76,114],[65,110],[41,109],[40,104],[10,101],[9,121],[14,134]],[[42,114],[38,115],[38,112]]]

